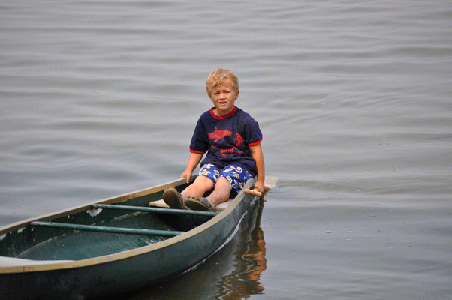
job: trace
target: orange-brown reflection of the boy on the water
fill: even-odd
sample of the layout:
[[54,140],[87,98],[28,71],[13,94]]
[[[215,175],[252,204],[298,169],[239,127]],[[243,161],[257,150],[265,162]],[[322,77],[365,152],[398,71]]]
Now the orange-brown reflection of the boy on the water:
[[267,269],[265,258],[264,232],[261,228],[264,202],[258,204],[249,223],[239,231],[243,247],[237,247],[234,271],[220,281],[220,291],[216,299],[244,299],[261,294],[264,287],[259,282],[261,273]]

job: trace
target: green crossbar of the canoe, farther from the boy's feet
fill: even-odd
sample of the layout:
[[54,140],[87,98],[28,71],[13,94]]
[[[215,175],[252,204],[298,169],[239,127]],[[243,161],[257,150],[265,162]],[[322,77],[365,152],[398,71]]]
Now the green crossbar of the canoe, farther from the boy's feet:
[[64,228],[73,230],[95,231],[95,232],[107,232],[107,233],[121,233],[121,234],[139,234],[139,235],[159,235],[159,236],[176,236],[184,232],[181,231],[166,231],[155,229],[132,229],[110,226],[90,226],[71,223],[53,223],[53,222],[41,222],[34,221],[30,223],[35,227],[50,227],[50,228]]

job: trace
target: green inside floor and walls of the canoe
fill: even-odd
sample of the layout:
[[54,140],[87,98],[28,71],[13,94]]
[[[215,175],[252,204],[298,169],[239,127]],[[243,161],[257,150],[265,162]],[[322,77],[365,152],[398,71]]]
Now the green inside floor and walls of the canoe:
[[[176,186],[182,191],[185,184]],[[150,201],[161,199],[163,189],[108,204],[149,207]],[[104,202],[105,203],[105,202]],[[79,209],[76,213],[48,217],[44,221],[129,229],[154,229],[186,232],[210,220],[212,216],[173,215],[166,213],[124,211],[118,209]],[[33,260],[82,260],[155,244],[171,236],[155,234],[121,234],[90,232],[67,228],[31,225],[0,236],[0,256]]]

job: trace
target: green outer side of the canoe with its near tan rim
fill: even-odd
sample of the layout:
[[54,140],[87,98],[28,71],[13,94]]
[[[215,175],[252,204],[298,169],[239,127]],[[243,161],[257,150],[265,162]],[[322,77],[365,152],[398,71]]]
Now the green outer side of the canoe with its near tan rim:
[[18,267],[11,273],[4,269],[0,274],[0,298],[87,299],[170,279],[224,245],[255,199],[240,193],[221,214],[154,245],[74,262],[27,265],[22,272],[17,271]]

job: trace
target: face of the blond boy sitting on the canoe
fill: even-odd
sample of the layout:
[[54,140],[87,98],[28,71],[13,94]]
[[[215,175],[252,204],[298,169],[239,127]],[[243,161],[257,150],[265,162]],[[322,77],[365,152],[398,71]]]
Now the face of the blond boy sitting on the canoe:
[[232,82],[227,80],[212,89],[209,98],[216,108],[217,115],[227,115],[234,109],[234,103],[239,96],[239,91],[232,88]]

